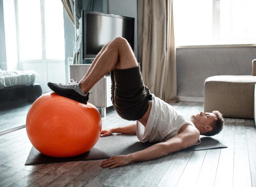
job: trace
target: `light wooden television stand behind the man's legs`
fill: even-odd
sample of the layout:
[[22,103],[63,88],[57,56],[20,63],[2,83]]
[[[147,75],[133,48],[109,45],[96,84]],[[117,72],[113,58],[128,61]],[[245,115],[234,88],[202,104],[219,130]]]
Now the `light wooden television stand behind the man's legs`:
[[[80,81],[88,69],[90,64],[70,65],[70,79]],[[111,101],[111,78],[110,74],[101,78],[90,90],[92,94],[89,97],[89,103],[101,108],[101,116],[106,116],[106,107],[112,106]]]

